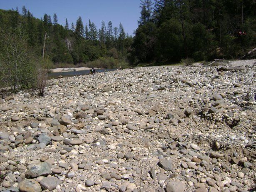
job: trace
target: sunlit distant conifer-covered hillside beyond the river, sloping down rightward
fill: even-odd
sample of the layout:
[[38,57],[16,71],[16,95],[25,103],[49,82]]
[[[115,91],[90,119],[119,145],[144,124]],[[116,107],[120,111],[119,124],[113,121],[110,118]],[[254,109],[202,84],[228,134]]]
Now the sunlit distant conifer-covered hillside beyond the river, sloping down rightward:
[[[45,10],[47,11],[47,10]],[[97,29],[93,21],[88,25],[79,17],[76,23],[68,23],[63,27],[58,24],[58,17],[43,15],[41,19],[33,17],[33,13],[23,6],[22,10],[0,10],[0,31],[4,34],[22,34],[30,50],[36,56],[45,55],[55,64],[87,63],[99,59],[95,67],[117,67],[127,65],[126,55],[132,37],[125,34],[123,25],[114,27],[109,21]],[[16,34],[15,34],[16,33]],[[2,42],[3,43],[3,42]],[[103,61],[103,62],[100,62]],[[64,65],[65,66],[65,65]]]

